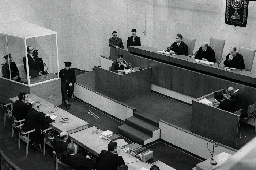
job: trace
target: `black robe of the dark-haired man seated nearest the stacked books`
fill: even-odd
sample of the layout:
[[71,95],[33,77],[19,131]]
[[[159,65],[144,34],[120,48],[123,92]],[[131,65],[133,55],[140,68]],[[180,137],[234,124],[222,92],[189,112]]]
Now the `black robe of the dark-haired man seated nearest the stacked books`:
[[124,159],[122,156],[112,154],[110,151],[103,150],[99,154],[97,170],[116,170],[119,165],[123,165]]

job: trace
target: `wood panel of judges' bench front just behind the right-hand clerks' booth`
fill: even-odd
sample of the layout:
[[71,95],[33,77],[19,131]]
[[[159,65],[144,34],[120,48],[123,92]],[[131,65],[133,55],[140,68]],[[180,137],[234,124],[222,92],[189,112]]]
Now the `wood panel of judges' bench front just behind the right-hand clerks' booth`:
[[227,87],[227,84],[227,80],[200,74],[197,87],[197,97],[199,98],[223,87]]

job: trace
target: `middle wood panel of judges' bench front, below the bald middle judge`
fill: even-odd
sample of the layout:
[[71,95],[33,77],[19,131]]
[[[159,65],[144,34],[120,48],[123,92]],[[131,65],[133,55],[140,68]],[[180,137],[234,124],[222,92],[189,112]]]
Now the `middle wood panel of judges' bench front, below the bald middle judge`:
[[197,97],[198,79],[199,74],[197,72],[178,67],[172,68],[172,90]]

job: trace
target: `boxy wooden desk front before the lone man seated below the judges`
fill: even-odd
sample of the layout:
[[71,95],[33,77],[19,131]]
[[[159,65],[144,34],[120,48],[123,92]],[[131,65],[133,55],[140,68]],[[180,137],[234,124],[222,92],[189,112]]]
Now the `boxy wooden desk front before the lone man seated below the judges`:
[[[100,67],[95,68],[95,91],[119,102],[151,92],[151,68],[125,74],[115,73]],[[136,71],[137,70],[137,71]]]

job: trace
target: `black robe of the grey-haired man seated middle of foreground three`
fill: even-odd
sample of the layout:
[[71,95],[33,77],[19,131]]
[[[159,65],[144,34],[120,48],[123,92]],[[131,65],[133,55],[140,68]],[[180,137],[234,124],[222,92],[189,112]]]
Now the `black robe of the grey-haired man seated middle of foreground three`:
[[81,154],[70,155],[67,151],[61,155],[61,161],[72,166],[75,170],[95,169],[95,158],[89,159]]

